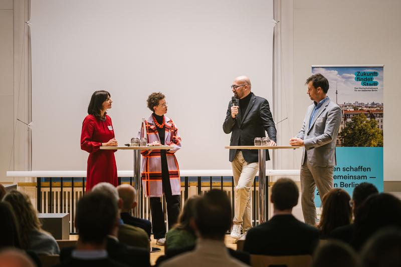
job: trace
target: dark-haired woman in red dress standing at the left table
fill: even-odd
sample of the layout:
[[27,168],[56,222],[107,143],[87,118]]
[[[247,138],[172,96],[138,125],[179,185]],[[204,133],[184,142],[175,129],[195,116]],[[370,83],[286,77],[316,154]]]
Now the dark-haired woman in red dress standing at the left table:
[[111,108],[110,94],[95,91],[88,106],[88,116],[82,123],[81,149],[89,152],[86,174],[86,191],[100,182],[118,185],[117,166],[114,152],[101,150],[101,146],[117,146],[113,124],[106,110]]

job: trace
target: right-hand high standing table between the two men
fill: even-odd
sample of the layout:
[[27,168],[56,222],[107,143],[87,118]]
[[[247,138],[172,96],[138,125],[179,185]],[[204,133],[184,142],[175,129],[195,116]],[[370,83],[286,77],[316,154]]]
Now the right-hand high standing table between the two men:
[[[296,149],[299,146],[225,146],[227,149],[258,149],[259,155],[259,223],[267,221],[269,205],[266,204],[266,184],[269,186],[269,177],[266,181],[266,149]],[[234,192],[233,192],[234,193]]]

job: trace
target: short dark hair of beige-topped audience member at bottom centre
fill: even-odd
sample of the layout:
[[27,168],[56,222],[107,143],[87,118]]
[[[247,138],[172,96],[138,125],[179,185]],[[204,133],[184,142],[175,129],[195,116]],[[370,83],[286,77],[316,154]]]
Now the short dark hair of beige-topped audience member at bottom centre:
[[194,219],[202,237],[223,238],[231,227],[231,203],[227,194],[212,189],[195,205]]

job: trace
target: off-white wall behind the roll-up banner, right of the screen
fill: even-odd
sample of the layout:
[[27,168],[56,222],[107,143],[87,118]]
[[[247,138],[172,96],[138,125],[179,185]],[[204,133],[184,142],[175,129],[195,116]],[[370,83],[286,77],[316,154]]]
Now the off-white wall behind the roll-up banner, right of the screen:
[[[282,1],[282,5],[288,99],[283,99],[281,106],[287,106],[289,117],[293,118],[288,132],[281,133],[282,142],[296,134],[310,105],[304,83],[311,75],[311,65],[384,64],[384,180],[401,180],[398,170],[401,144],[397,138],[401,131],[398,123],[401,2],[296,0]],[[288,158],[286,166],[291,168],[295,158],[292,166],[298,168],[300,156],[301,151],[297,151],[295,157]]]

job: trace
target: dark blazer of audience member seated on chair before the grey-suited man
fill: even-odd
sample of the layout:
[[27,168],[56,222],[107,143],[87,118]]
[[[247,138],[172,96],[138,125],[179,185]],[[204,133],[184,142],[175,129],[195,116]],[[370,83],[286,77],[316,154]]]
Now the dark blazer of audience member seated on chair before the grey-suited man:
[[248,231],[244,251],[262,255],[312,254],[319,241],[319,231],[300,222],[293,215],[275,215]]

